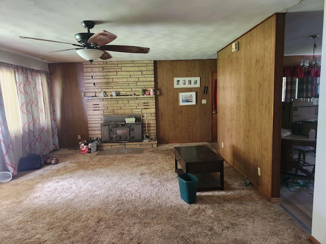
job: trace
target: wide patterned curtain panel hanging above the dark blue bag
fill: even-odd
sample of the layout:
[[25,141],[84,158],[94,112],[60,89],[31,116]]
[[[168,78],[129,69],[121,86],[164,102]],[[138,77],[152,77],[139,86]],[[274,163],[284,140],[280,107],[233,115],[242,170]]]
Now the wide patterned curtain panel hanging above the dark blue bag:
[[42,80],[37,70],[16,67],[16,84],[22,127],[23,155],[50,153]]

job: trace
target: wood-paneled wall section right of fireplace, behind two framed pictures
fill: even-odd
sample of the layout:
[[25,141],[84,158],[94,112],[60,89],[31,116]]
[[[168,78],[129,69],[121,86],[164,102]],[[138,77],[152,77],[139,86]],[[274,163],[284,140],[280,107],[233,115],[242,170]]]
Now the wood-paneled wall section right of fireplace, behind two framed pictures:
[[[211,70],[216,70],[216,59],[171,60],[156,62],[155,89],[158,143],[211,141],[210,81]],[[199,88],[174,88],[174,77],[200,77]],[[204,86],[208,93],[204,95]],[[196,92],[196,105],[179,106],[179,93]],[[207,103],[202,104],[206,99]]]

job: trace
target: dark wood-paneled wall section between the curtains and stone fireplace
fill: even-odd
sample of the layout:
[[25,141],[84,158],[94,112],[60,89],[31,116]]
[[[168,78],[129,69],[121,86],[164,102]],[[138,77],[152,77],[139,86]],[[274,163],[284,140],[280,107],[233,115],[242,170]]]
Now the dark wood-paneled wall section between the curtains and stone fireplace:
[[83,63],[49,64],[49,73],[52,73],[59,146],[79,147],[79,141],[89,138],[86,100],[82,98],[85,92]]

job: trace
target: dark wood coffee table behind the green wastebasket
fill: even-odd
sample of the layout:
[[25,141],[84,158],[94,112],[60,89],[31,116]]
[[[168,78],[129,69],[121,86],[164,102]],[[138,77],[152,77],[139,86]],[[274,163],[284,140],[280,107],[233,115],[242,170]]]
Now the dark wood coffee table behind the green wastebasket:
[[[179,146],[175,149],[175,172],[198,178],[197,191],[224,190],[224,159],[207,146]],[[178,163],[181,169],[178,169]],[[220,180],[212,173],[220,172]]]

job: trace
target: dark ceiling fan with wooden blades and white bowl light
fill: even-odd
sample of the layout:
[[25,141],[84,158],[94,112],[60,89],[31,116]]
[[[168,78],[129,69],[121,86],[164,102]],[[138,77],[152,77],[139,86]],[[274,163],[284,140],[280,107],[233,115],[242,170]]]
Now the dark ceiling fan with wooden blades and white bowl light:
[[[51,52],[61,52],[75,49],[79,56],[88,60],[90,63],[97,58],[101,58],[103,60],[112,58],[111,54],[107,51],[115,51],[115,52],[131,52],[131,53],[148,53],[149,48],[146,47],[135,47],[135,46],[122,46],[122,45],[106,45],[117,38],[116,35],[101,31],[96,34],[90,33],[90,29],[95,26],[95,22],[91,20],[84,20],[82,24],[85,28],[87,28],[87,33],[77,33],[75,34],[75,38],[79,44],[67,43],[67,42],[59,42],[59,41],[51,41],[39,38],[32,37],[19,37],[23,39],[33,39],[39,41],[47,41],[47,42],[57,42],[64,43],[76,46],[77,48],[70,48],[58,51]],[[48,52],[48,53],[51,53]]]

